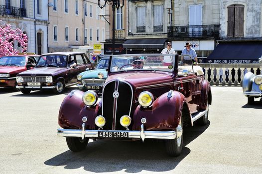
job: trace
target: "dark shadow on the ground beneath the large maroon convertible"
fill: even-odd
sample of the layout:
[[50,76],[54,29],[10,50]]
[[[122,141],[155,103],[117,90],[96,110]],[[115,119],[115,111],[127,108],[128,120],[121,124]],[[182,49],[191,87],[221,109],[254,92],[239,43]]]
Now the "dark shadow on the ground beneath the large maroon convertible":
[[[64,166],[64,169],[84,168],[88,172],[138,173],[141,171],[166,172],[176,166],[191,152],[185,147],[200,136],[210,125],[185,126],[184,147],[178,157],[170,157],[163,140],[89,142],[83,152],[66,151],[44,162],[48,166]],[[65,139],[63,139],[65,141]]]

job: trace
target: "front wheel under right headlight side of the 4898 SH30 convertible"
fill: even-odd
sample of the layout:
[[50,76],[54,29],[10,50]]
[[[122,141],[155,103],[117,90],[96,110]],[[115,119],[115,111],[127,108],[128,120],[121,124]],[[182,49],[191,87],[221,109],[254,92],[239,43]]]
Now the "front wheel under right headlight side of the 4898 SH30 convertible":
[[183,148],[183,119],[179,121],[178,126],[175,129],[176,138],[173,140],[165,140],[166,151],[168,155],[177,157],[181,154]]

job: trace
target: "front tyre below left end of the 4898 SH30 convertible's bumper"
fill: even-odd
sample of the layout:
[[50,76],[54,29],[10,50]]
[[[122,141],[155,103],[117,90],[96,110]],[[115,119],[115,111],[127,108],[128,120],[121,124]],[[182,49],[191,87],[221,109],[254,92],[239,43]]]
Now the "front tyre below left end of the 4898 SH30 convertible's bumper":
[[80,152],[86,149],[88,138],[84,141],[79,137],[66,137],[66,143],[68,148],[73,152]]

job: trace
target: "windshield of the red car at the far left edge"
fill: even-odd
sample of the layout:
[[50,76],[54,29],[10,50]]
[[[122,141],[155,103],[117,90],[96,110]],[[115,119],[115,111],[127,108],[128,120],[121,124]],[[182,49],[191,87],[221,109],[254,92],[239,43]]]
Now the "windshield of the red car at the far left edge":
[[25,57],[22,56],[3,56],[0,58],[0,66],[25,66]]

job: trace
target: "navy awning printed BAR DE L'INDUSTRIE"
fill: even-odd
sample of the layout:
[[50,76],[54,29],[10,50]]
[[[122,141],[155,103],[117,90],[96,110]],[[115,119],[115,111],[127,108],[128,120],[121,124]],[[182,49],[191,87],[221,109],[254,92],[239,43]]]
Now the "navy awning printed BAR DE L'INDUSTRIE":
[[261,41],[220,42],[207,57],[206,62],[212,63],[259,63],[262,57]]

